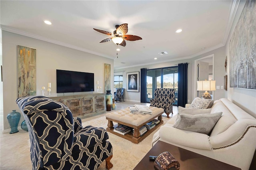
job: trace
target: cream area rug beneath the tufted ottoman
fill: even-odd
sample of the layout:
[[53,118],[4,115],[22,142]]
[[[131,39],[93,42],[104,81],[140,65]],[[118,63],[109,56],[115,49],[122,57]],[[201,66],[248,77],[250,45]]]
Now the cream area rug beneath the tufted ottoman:
[[[162,115],[164,125],[168,120],[166,115]],[[114,122],[113,122],[114,123]],[[115,124],[115,123],[114,123]],[[97,119],[93,119],[90,121],[86,121],[82,123],[83,127],[87,125],[91,125],[94,127],[104,127],[107,128],[108,120],[106,120],[105,116],[99,117]],[[138,144],[134,144],[129,140],[121,138],[115,134],[108,133],[110,143],[113,146],[113,158],[111,159],[111,163],[113,164],[113,168],[111,170],[132,170],[135,166],[142,160],[142,158],[148,153],[148,151],[152,148],[151,142],[154,133],[159,130],[160,127],[156,128],[154,132],[152,132],[149,136],[147,136],[142,142]],[[106,170],[106,162],[102,162],[102,164],[98,167],[97,170]]]

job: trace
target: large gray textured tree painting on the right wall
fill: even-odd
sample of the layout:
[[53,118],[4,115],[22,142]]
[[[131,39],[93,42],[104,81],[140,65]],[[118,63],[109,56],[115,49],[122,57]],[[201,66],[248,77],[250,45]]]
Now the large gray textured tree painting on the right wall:
[[256,1],[248,0],[230,39],[230,87],[256,89]]

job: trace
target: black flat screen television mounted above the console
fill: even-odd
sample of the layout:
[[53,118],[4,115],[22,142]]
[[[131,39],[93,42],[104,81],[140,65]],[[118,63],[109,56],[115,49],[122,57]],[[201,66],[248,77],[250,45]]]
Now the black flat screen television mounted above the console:
[[94,91],[94,73],[56,70],[57,93]]

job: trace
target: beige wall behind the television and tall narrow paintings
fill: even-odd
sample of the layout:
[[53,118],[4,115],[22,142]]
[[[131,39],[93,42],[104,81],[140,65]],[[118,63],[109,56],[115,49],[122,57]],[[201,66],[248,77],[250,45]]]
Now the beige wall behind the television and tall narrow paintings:
[[[42,95],[41,87],[47,87],[48,82],[51,83],[52,94],[56,95],[56,69],[94,73],[94,81],[98,80],[104,90],[104,63],[111,65],[111,87],[114,88],[113,59],[2,31],[4,129],[10,128],[5,119],[8,113],[15,109],[20,111],[15,103],[18,97],[17,45],[36,48],[37,95]],[[23,120],[21,117],[20,123]]]

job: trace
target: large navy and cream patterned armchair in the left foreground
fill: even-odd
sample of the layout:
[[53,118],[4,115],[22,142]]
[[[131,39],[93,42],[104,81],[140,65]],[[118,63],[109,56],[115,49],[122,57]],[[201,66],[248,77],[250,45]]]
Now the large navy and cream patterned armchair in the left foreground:
[[82,127],[62,103],[44,96],[16,100],[28,126],[33,170],[96,170],[113,167],[112,145],[104,128]]

